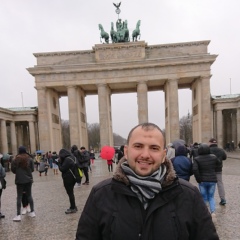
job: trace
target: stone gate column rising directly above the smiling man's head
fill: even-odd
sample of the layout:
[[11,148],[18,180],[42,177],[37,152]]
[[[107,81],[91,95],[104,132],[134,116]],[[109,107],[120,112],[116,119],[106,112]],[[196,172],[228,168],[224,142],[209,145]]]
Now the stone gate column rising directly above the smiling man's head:
[[137,85],[138,122],[148,122],[148,87],[145,81]]

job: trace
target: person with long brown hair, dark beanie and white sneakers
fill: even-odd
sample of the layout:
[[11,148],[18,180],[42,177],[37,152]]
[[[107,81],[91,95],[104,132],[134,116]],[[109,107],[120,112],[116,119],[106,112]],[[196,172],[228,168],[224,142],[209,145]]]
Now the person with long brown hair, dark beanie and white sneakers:
[[21,221],[20,211],[24,191],[27,195],[28,203],[30,204],[31,212],[29,213],[29,216],[35,217],[36,214],[34,212],[34,203],[32,198],[32,172],[34,171],[34,162],[32,156],[27,153],[24,146],[18,148],[18,155],[11,164],[11,171],[15,174],[15,184],[17,186],[17,216],[13,218],[13,221]]

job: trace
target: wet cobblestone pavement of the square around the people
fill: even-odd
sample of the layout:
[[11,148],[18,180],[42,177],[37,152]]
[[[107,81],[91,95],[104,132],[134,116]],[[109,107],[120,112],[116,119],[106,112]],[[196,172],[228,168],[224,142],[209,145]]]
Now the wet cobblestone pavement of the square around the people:
[[[68,240],[75,239],[78,219],[92,186],[99,181],[111,177],[105,160],[95,160],[90,173],[90,185],[76,188],[75,198],[78,212],[65,214],[69,201],[63,187],[61,174],[53,175],[49,169],[48,176],[39,176],[34,172],[33,199],[36,217],[22,215],[21,222],[13,222],[16,216],[16,187],[14,174],[7,172],[7,188],[2,194],[2,213],[0,219],[0,239],[4,240]],[[84,180],[84,179],[83,179]],[[216,221],[215,225],[221,240],[240,239],[240,152],[229,153],[224,162],[223,180],[226,190],[227,205],[221,207],[216,190]],[[191,182],[196,185],[194,177]]]

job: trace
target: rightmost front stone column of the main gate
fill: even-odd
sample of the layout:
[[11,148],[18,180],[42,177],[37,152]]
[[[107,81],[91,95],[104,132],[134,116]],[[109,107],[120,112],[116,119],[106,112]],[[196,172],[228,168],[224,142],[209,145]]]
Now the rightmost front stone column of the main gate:
[[211,96],[210,96],[210,76],[201,77],[201,115],[200,115],[200,125],[201,125],[201,142],[208,142],[213,136],[212,132],[212,113],[211,113]]

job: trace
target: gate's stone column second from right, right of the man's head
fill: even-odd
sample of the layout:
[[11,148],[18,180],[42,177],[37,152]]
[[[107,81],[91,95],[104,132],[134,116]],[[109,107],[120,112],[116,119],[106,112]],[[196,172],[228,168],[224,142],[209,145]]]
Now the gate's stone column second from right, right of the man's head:
[[178,109],[178,80],[168,80],[165,85],[165,125],[166,142],[172,142],[180,137]]

